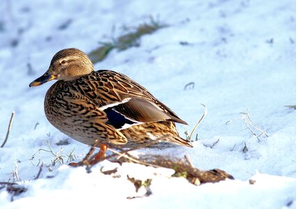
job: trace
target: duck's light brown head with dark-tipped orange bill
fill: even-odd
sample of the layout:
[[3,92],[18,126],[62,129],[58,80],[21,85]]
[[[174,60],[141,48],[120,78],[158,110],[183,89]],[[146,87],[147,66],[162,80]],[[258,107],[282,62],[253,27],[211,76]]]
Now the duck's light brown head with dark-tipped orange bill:
[[45,74],[31,82],[29,86],[40,86],[53,79],[72,81],[91,72],[93,72],[93,63],[84,52],[75,48],[62,49],[54,55]]

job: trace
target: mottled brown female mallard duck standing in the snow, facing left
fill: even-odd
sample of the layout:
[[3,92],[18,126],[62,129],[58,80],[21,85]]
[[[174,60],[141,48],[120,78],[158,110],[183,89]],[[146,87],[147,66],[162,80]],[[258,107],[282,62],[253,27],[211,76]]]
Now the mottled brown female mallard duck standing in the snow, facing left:
[[167,136],[149,147],[192,147],[179,137],[174,123],[185,121],[129,77],[111,70],[94,71],[91,60],[79,49],[56,53],[49,70],[29,86],[52,79],[58,82],[45,95],[45,115],[54,127],[77,141],[133,148]]

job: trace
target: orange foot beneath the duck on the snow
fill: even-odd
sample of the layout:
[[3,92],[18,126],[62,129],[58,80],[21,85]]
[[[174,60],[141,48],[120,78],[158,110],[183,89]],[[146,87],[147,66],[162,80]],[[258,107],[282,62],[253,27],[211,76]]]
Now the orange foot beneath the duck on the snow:
[[92,166],[106,157],[106,150],[107,146],[105,144],[100,144],[100,151],[96,155],[93,155],[93,152],[95,151],[95,146],[92,146],[83,160],[81,160],[80,162],[71,162],[68,165],[70,167],[80,167],[83,165]]

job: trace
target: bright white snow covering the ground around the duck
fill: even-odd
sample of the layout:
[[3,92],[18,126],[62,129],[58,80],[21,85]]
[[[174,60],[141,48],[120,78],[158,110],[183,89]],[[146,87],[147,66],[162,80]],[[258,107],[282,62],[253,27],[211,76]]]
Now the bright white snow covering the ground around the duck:
[[[0,181],[18,181],[15,173],[27,189],[13,202],[1,189],[1,208],[296,208],[296,111],[285,107],[296,104],[295,11],[291,0],[1,1],[0,144],[12,111],[15,118],[0,148]],[[122,35],[121,26],[137,26],[149,16],[169,26],[143,36],[140,47],[114,50],[95,68],[123,72],[148,88],[189,123],[179,125],[183,137],[205,104],[208,115],[198,126],[194,148],[141,153],[186,154],[194,167],[223,169],[235,180],[194,186],[168,178],[169,169],[107,161],[92,173],[56,163],[52,172],[43,167],[33,180],[41,162],[54,159],[44,151],[47,140],[65,161],[73,149],[79,160],[89,147],[68,139],[45,118],[43,99],[53,82],[38,88],[29,83],[60,49],[91,52],[100,41]],[[185,90],[190,82],[194,88]],[[258,138],[251,133],[246,112],[268,137],[254,127]],[[63,139],[70,144],[57,146]],[[102,174],[101,167],[118,167],[121,178]],[[152,178],[152,195],[127,199],[145,193],[135,192],[127,173]]]

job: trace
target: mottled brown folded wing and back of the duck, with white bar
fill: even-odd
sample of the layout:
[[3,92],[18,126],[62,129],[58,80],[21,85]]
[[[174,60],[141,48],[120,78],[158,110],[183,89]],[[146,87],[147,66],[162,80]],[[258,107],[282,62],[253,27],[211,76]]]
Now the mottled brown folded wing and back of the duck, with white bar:
[[[123,124],[158,121],[187,124],[169,107],[154,98],[146,88],[123,74],[99,70],[80,80],[86,84],[81,86],[81,91],[95,101],[102,111],[107,112],[107,117],[117,113],[127,119],[128,121],[119,120]],[[92,86],[92,90],[89,86]]]

